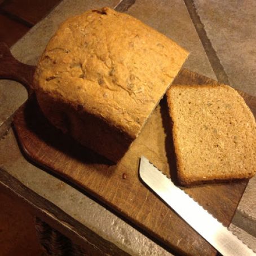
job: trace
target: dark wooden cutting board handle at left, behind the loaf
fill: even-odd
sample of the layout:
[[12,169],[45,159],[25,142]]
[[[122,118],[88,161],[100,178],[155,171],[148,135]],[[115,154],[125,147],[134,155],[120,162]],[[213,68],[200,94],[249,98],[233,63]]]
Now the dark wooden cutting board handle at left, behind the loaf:
[[33,92],[33,76],[35,70],[35,66],[27,65],[16,60],[6,43],[0,42],[0,78],[22,83],[30,96]]

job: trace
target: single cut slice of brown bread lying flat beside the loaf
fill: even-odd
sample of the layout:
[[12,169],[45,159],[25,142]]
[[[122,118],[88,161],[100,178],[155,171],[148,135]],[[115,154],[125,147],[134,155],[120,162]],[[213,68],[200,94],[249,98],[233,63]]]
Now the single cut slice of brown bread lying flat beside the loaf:
[[226,85],[171,86],[179,182],[251,178],[256,172],[256,124],[239,93]]

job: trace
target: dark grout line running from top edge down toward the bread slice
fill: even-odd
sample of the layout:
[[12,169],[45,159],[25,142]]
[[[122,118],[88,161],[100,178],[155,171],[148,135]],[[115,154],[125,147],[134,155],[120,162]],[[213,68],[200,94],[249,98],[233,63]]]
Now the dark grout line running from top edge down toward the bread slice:
[[184,3],[187,7],[191,20],[196,28],[197,34],[205,49],[206,55],[210,61],[211,68],[213,68],[213,72],[215,73],[215,76],[218,79],[218,82],[229,85],[230,82],[228,80],[228,76],[222,64],[220,63],[217,52],[214,50],[213,46],[211,45],[211,41],[208,38],[207,33],[204,29],[204,24],[202,23],[200,16],[196,12],[196,7],[193,0],[184,0]]

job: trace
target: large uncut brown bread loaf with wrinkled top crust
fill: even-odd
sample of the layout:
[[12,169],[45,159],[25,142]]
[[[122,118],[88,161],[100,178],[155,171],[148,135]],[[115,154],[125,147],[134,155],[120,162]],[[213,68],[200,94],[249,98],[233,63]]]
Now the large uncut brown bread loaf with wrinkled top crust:
[[51,38],[34,90],[54,126],[117,162],[187,56],[130,15],[90,10],[65,21]]

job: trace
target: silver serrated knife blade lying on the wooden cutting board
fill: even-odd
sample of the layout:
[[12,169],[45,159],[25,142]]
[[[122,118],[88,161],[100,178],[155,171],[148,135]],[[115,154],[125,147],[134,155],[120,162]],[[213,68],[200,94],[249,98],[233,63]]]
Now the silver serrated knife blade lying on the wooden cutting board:
[[143,182],[222,255],[256,255],[144,156],[140,158],[139,175]]

